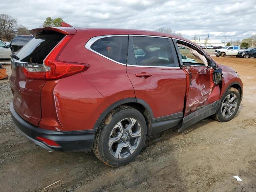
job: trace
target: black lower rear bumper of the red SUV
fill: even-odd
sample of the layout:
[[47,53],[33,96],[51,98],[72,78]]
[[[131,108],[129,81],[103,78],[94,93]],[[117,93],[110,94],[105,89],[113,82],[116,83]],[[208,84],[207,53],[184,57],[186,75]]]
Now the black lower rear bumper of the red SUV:
[[[14,110],[12,102],[10,103],[10,113],[14,122],[15,128],[26,136],[29,140],[34,142],[36,145],[49,150],[49,151],[88,151],[92,149],[94,142],[94,136],[96,130],[85,130],[85,131],[72,131],[72,132],[61,132],[61,131],[50,131],[45,130],[26,122],[22,119]],[[50,139],[60,145],[60,147],[48,146],[46,143],[36,139],[36,137],[42,137]]]

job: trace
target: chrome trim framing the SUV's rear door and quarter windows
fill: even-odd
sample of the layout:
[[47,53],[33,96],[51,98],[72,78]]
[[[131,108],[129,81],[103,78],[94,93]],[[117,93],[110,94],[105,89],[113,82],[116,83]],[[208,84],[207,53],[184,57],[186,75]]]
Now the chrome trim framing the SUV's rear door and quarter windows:
[[96,42],[97,40],[101,39],[101,38],[105,38],[105,37],[118,37],[118,36],[140,36],[140,37],[157,37],[157,38],[166,38],[166,39],[171,39],[170,37],[163,37],[163,36],[153,36],[153,35],[132,35],[132,34],[129,34],[129,35],[102,35],[102,36],[96,36],[96,37],[92,37],[88,40],[88,42],[86,42],[85,44],[85,48],[112,61],[112,62],[115,62],[117,64],[120,64],[120,65],[125,65],[125,66],[130,66],[130,67],[152,67],[152,68],[174,68],[174,69],[180,69],[180,67],[168,67],[168,66],[148,66],[148,65],[127,65],[127,64],[124,64],[124,63],[120,63],[120,62],[117,62],[115,60],[112,60],[110,58],[108,58],[107,56],[104,56],[102,54],[100,54],[99,52],[96,52],[95,50],[93,50],[91,48],[92,44],[94,44],[94,42]]

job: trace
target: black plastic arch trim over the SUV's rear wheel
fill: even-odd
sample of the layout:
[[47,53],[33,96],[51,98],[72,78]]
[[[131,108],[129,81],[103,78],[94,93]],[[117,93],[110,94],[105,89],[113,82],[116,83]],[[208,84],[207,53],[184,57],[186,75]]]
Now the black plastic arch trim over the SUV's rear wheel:
[[139,98],[125,98],[122,100],[118,100],[118,101],[114,102],[113,104],[111,104],[110,106],[108,106],[108,108],[106,110],[104,110],[104,112],[102,112],[102,114],[100,115],[100,117],[98,118],[96,123],[94,124],[93,129],[97,130],[98,127],[100,126],[100,124],[102,123],[102,121],[104,120],[104,118],[106,118],[106,116],[113,109],[115,109],[121,105],[130,106],[132,108],[135,108],[139,112],[141,112],[146,120],[147,129],[150,127],[151,119],[154,118],[154,115],[153,115],[152,109],[150,108],[148,103]]

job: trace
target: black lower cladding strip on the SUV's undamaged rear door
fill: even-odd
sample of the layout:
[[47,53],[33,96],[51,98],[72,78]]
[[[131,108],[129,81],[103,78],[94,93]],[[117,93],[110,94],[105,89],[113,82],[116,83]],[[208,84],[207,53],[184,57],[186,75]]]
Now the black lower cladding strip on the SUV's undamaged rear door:
[[168,116],[153,118],[151,119],[151,126],[148,130],[148,134],[152,135],[172,128],[179,124],[179,122],[182,120],[182,117],[183,112],[179,112]]

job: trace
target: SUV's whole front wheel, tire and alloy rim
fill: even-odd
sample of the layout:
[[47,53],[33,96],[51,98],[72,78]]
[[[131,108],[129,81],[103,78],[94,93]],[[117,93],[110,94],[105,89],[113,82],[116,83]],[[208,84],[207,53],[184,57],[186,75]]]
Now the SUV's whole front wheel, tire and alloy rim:
[[241,97],[237,89],[229,88],[228,92],[222,96],[221,105],[216,114],[212,116],[219,122],[231,120],[237,113],[240,106]]

